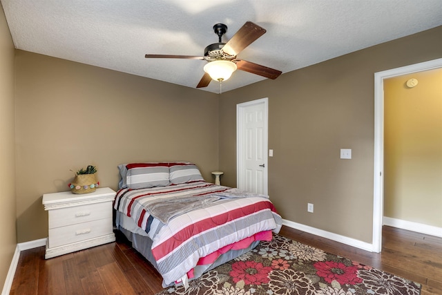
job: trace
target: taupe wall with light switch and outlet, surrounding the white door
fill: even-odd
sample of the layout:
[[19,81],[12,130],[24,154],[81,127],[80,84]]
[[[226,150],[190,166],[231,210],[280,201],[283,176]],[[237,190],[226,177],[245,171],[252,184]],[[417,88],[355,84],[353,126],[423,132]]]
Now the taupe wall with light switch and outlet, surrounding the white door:
[[[224,93],[223,183],[236,185],[236,104],[269,97],[269,195],[282,218],[372,242],[374,73],[442,57],[441,35],[434,28]],[[352,160],[340,160],[342,148]]]

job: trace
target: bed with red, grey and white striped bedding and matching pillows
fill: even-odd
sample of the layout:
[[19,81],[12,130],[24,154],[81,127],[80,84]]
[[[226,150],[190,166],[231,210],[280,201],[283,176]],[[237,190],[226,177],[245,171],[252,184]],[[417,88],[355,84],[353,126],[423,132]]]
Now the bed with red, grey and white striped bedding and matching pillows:
[[271,240],[282,219],[268,196],[204,181],[190,162],[119,165],[117,228],[179,285]]

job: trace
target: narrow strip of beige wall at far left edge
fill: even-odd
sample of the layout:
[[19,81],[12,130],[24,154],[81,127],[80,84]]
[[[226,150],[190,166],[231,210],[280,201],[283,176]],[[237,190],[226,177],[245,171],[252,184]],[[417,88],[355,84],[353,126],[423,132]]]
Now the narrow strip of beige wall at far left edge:
[[0,3],[0,284],[17,245],[15,225],[14,44]]

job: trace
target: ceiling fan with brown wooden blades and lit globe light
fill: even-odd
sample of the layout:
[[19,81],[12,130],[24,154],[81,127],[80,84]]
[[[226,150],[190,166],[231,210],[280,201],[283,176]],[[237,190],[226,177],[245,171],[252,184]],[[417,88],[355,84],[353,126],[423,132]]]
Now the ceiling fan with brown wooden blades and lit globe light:
[[221,37],[227,32],[227,26],[224,23],[216,23],[213,26],[215,34],[218,35],[218,43],[211,44],[204,49],[204,56],[192,55],[145,55],[146,58],[173,58],[173,59],[200,59],[208,61],[204,66],[204,75],[198,83],[197,88],[209,86],[211,79],[223,82],[231,76],[235,70],[244,70],[249,73],[276,79],[281,75],[280,70],[268,68],[254,64],[244,59],[238,59],[236,56],[253,41],[264,35],[266,30],[256,23],[247,21],[244,26],[236,32],[227,43],[222,43]]

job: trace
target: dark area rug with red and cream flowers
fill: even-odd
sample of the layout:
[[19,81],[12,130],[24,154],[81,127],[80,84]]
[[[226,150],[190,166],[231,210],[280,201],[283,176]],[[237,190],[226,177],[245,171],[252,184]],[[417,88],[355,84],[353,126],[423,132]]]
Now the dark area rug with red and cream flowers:
[[416,294],[421,285],[356,261],[273,235],[253,250],[215,267],[189,287],[157,295]]

